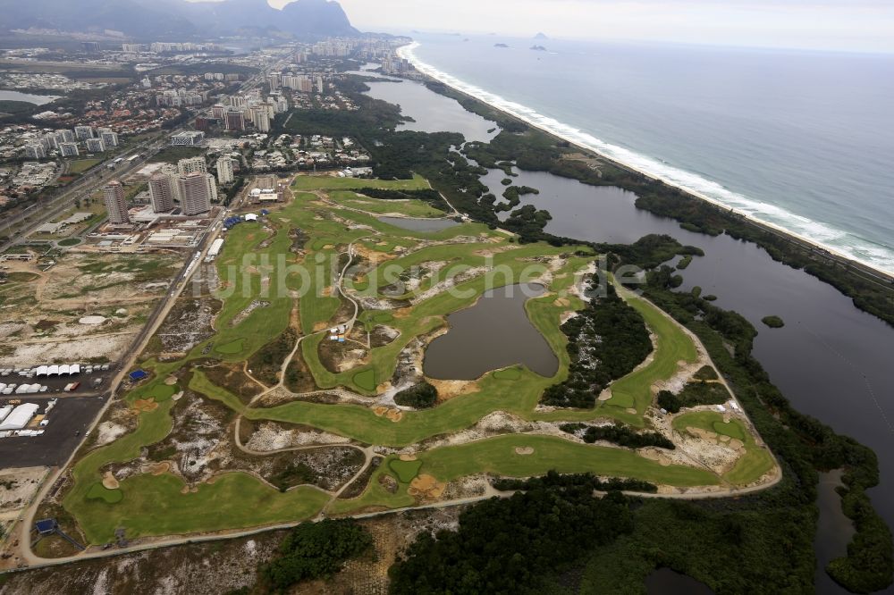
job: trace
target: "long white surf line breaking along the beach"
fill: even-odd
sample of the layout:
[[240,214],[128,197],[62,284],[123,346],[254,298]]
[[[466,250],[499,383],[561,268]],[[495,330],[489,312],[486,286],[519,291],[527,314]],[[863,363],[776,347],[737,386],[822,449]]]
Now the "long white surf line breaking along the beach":
[[[417,71],[426,74],[434,80],[439,80],[444,85],[460,91],[460,93],[476,97],[485,104],[491,105],[493,108],[502,112],[509,113],[519,120],[527,122],[536,129],[543,130],[553,136],[567,140],[572,145],[592,151],[613,162],[620,163],[621,165],[628,167],[630,170],[641,173],[648,178],[661,180],[669,186],[683,190],[688,194],[699,197],[713,205],[720,206],[726,211],[738,214],[753,222],[758,222],[763,226],[777,230],[789,237],[797,238],[805,244],[824,250],[832,255],[839,256],[839,258],[863,264],[883,275],[894,275],[894,254],[891,254],[890,251],[887,251],[884,248],[873,246],[853,248],[872,254],[875,260],[879,261],[875,262],[873,260],[866,260],[865,256],[858,256],[843,248],[831,247],[828,244],[823,243],[845,236],[863,243],[872,244],[870,240],[856,238],[846,231],[836,230],[822,222],[814,222],[802,215],[791,213],[778,205],[771,205],[769,203],[757,201],[738,194],[737,192],[733,192],[730,189],[724,188],[721,184],[712,180],[705,180],[697,174],[680,170],[679,168],[672,167],[666,163],[661,163],[645,155],[639,155],[624,147],[611,145],[599,138],[595,138],[591,134],[576,129],[573,126],[569,126],[554,118],[537,113],[526,105],[517,104],[504,99],[502,96],[485,91],[483,88],[470,85],[446,72],[439,71],[431,64],[422,62],[414,53],[419,46],[420,44],[417,41],[414,41],[406,46],[399,47],[397,49],[397,54],[401,58],[409,60]],[[723,200],[715,197],[722,197]],[[774,214],[780,219],[797,222],[804,229],[802,231],[791,230],[777,223],[766,221],[758,216],[758,214]],[[812,237],[807,237],[805,233],[811,234]]]

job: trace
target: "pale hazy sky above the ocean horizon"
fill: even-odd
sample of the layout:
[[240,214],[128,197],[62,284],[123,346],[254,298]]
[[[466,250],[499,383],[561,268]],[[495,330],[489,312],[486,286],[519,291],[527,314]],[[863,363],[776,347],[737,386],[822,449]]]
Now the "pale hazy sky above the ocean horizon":
[[[288,0],[269,0],[281,6]],[[341,0],[352,24],[894,52],[894,0]]]

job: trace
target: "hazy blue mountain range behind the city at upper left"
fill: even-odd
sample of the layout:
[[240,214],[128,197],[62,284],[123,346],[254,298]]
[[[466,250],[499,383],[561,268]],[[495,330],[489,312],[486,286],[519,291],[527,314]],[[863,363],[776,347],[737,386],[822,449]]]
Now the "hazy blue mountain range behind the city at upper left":
[[226,35],[274,29],[299,38],[358,35],[341,4],[297,0],[277,10],[266,0],[0,0],[0,27],[61,30],[115,29],[131,38]]

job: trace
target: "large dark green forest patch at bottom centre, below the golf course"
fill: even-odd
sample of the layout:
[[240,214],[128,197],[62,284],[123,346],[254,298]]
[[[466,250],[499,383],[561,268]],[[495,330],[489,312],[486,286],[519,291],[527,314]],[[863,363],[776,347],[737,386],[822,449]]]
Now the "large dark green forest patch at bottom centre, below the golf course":
[[460,515],[460,529],[422,533],[392,566],[391,592],[528,593],[544,576],[578,562],[587,547],[631,532],[628,499],[613,491],[594,498],[590,482],[528,486]]

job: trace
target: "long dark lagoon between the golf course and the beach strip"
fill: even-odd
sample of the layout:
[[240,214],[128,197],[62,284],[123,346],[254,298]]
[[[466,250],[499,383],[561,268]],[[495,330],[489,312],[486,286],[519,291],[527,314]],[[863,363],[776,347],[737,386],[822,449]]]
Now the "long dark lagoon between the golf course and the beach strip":
[[[440,99],[427,91],[421,101],[425,104],[432,97]],[[414,117],[430,109],[406,99],[401,105]],[[444,109],[451,110],[451,116],[465,112],[455,102]],[[484,181],[499,195],[503,177],[502,171],[493,171]],[[870,496],[894,526],[894,328],[857,310],[830,285],[773,261],[754,244],[691,233],[671,219],[637,210],[635,197],[623,190],[593,188],[542,172],[519,172],[512,180],[540,190],[539,195],[521,197],[522,204],[548,210],[552,221],[546,229],[557,235],[632,241],[648,233],[667,233],[703,248],[705,256],[696,257],[681,272],[683,289],[700,286],[704,294],[718,297],[718,306],[744,315],[760,333],[755,357],[792,404],[875,450],[881,483]],[[761,318],[770,314],[779,315],[785,326],[763,326]],[[817,592],[845,591],[827,580],[821,568]]]

